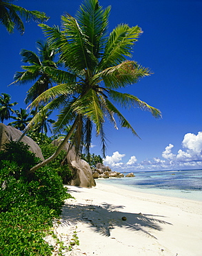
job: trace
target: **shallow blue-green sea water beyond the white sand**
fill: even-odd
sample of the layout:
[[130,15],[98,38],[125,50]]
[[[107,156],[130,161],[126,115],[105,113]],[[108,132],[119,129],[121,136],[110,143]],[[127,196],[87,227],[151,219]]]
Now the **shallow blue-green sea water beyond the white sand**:
[[133,173],[135,177],[98,179],[96,182],[119,186],[126,190],[202,201],[202,170]]

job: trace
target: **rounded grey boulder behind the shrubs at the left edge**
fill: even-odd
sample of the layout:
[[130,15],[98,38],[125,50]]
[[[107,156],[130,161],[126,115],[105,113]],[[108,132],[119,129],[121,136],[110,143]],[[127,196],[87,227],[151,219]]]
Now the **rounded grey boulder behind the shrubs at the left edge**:
[[[5,143],[18,140],[21,134],[22,132],[18,129],[0,123],[0,151],[3,150],[3,145]],[[33,152],[37,157],[41,158],[41,160],[44,160],[39,145],[37,145],[37,143],[35,143],[32,138],[24,136],[21,141],[24,144],[27,144],[30,147],[30,151]]]

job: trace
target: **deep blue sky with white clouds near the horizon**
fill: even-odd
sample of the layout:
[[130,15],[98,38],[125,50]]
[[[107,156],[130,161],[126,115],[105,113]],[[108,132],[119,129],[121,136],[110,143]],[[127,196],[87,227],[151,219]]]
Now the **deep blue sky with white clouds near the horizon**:
[[[40,10],[50,16],[49,26],[60,25],[64,12],[74,16],[80,0],[19,0],[17,5]],[[153,75],[128,86],[125,91],[161,110],[156,120],[146,111],[121,111],[141,139],[127,129],[115,130],[108,123],[105,164],[112,170],[174,170],[202,168],[202,1],[196,0],[101,0],[112,6],[111,31],[117,24],[140,26],[143,34],[134,46],[132,60],[149,67]],[[16,109],[26,108],[23,100],[29,84],[9,86],[21,71],[22,48],[36,51],[37,39],[44,39],[36,23],[26,23],[23,36],[9,35],[0,25],[1,91],[12,96]],[[10,120],[11,121],[11,120]],[[93,137],[91,152],[101,154],[99,138]]]

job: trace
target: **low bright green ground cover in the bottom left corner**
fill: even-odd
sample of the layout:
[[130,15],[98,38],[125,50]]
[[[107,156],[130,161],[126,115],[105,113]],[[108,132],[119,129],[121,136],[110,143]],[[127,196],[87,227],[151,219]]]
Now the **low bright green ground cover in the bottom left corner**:
[[49,208],[19,205],[0,214],[0,255],[52,255],[44,240],[52,226]]

